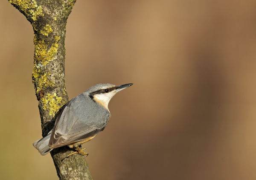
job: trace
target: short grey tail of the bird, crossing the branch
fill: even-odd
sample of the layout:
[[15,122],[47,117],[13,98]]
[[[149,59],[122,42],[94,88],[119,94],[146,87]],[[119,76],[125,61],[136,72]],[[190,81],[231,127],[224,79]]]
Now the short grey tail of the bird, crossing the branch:
[[40,152],[41,155],[45,155],[52,151],[52,149],[49,147],[50,137],[51,133],[33,143],[33,146]]

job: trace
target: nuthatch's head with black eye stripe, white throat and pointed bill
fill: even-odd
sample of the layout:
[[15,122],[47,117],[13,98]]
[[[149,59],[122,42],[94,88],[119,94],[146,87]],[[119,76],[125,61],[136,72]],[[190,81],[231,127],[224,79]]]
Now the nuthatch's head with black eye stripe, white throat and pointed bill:
[[108,103],[110,102],[111,98],[116,95],[121,90],[130,87],[133,83],[129,84],[122,84],[120,86],[116,86],[114,84],[96,84],[93,87],[90,87],[86,93],[90,98],[108,109]]

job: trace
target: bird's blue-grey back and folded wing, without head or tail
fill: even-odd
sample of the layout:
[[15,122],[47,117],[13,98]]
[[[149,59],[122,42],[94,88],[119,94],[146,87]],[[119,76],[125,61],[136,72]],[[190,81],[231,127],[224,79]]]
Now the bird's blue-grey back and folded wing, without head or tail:
[[83,93],[72,99],[56,119],[49,146],[58,148],[95,135],[105,128],[109,116],[107,109]]

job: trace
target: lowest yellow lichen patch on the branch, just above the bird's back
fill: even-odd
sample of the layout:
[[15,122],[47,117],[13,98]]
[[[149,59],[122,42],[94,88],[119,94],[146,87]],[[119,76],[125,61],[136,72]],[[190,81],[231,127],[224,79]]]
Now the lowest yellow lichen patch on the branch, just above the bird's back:
[[65,104],[62,97],[57,96],[56,93],[47,93],[41,98],[43,109],[49,111],[50,116],[55,116],[55,113]]

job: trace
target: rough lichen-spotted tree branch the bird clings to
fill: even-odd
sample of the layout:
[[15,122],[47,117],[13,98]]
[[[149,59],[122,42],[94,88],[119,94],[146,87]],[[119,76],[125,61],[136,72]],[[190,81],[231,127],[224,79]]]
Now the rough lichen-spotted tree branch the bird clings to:
[[[42,135],[53,127],[55,115],[67,103],[65,88],[65,33],[67,18],[76,0],[9,0],[34,29],[34,67],[32,81],[39,102]],[[70,154],[67,147],[51,151],[61,180],[91,180],[84,156]],[[64,159],[64,160],[63,160]]]

